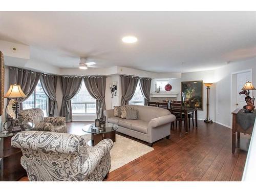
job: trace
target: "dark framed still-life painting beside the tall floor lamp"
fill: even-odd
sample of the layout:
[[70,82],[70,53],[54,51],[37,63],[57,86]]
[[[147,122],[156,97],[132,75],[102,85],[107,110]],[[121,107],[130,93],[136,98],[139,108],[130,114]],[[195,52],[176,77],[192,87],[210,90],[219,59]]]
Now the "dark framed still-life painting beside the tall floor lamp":
[[203,81],[182,81],[181,101],[187,108],[203,110]]

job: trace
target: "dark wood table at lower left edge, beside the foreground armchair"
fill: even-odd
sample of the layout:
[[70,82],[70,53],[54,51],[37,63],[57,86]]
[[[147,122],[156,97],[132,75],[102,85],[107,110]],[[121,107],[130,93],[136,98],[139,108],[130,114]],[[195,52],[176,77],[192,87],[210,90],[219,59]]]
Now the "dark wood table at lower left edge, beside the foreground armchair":
[[26,170],[20,165],[22,151],[20,151],[20,148],[11,146],[13,135],[13,133],[0,133],[0,158],[2,158],[0,181],[18,181],[27,174]]

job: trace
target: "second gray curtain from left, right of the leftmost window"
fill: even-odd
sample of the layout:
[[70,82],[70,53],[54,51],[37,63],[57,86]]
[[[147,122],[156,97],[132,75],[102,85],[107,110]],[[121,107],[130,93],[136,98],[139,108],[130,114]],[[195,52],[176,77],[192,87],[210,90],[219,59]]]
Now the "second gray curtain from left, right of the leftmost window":
[[49,102],[47,103],[48,117],[56,117],[58,116],[58,113],[59,113],[58,104],[56,100],[57,79],[58,77],[55,75],[42,74],[40,76],[42,89],[44,90],[47,97],[49,98]]

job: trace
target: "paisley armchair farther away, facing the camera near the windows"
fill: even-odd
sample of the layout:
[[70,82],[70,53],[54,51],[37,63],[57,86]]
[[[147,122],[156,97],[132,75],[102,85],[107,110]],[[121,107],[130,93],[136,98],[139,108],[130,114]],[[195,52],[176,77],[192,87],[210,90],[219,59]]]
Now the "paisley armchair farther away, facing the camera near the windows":
[[[35,126],[32,127],[29,122]],[[65,117],[44,117],[39,108],[21,110],[13,125],[22,127],[22,130],[67,133]]]

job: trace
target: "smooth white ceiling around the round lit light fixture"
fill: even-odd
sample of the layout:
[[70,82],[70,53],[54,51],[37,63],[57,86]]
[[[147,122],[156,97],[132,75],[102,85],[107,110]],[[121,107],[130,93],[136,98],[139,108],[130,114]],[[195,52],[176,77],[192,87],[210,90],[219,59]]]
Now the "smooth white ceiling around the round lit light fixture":
[[192,72],[256,57],[255,24],[256,12],[0,12],[0,40],[59,68],[89,57],[102,68]]

